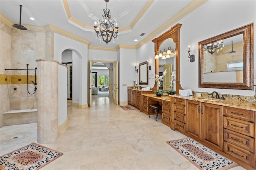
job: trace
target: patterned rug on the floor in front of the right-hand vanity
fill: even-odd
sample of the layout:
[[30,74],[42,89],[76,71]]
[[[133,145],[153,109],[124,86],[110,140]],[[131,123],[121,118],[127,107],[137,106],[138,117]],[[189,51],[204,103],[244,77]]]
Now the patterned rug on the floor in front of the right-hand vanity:
[[201,170],[227,170],[238,166],[232,160],[228,160],[191,138],[172,140],[166,143]]

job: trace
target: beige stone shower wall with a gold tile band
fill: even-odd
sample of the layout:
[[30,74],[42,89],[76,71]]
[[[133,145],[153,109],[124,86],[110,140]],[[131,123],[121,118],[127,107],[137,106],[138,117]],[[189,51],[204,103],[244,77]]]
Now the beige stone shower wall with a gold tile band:
[[35,71],[28,71],[27,90],[26,70],[5,71],[4,69],[27,69],[27,64],[28,69],[35,69],[37,67],[35,60],[46,58],[46,32],[18,30],[2,22],[0,26],[0,127],[2,127],[4,112],[37,107],[37,92],[33,95],[28,93],[28,91],[34,93],[34,84],[30,80],[35,81]]

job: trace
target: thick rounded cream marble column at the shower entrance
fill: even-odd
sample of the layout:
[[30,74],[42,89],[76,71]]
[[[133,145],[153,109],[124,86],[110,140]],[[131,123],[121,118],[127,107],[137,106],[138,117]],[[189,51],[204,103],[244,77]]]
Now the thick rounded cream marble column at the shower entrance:
[[40,144],[58,138],[58,61],[38,59],[38,123],[37,141]]

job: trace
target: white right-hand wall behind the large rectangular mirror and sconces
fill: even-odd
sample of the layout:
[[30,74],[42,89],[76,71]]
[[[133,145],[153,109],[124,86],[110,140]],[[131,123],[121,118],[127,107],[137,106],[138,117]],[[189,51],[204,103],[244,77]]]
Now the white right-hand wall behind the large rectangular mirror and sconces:
[[[246,0],[209,0],[197,8],[188,16],[182,18],[177,23],[182,24],[180,29],[180,84],[183,89],[192,89],[193,91],[212,92],[253,96],[252,90],[234,90],[234,89],[213,89],[198,87],[198,42],[217,36],[254,22],[254,40],[256,32],[256,1]],[[175,24],[174,24],[175,25]],[[171,27],[170,27],[171,28]],[[164,32],[169,30],[166,29]],[[161,34],[163,34],[162,32]],[[159,35],[161,35],[159,34]],[[158,37],[158,36],[156,36]],[[149,43],[149,42],[148,42]],[[139,58],[144,57],[144,53],[154,53],[154,47],[146,43],[137,51]],[[195,62],[188,61],[188,45],[190,45],[190,54],[195,55]],[[145,46],[145,48],[143,48]],[[254,43],[254,51],[256,45]],[[154,54],[153,54],[154,55]],[[152,55],[152,59],[153,59]],[[142,60],[145,60],[143,58]],[[256,68],[256,59],[254,52],[254,68]],[[154,67],[153,67],[154,68]],[[254,79],[255,80],[255,79]],[[150,81],[150,87],[152,83]]]

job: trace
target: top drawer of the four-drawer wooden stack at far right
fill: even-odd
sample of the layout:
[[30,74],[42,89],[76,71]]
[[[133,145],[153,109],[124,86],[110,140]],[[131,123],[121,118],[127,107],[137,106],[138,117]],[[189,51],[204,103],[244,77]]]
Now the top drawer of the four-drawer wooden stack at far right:
[[223,115],[248,122],[254,122],[254,111],[238,109],[234,107],[224,107]]

